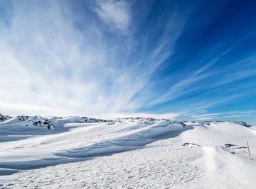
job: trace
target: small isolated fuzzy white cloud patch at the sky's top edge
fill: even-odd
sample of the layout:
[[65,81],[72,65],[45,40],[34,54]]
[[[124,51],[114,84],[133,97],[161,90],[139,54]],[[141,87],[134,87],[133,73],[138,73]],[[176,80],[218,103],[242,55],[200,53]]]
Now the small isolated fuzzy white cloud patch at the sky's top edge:
[[99,0],[95,9],[104,23],[118,30],[128,30],[132,20],[130,5],[126,1]]

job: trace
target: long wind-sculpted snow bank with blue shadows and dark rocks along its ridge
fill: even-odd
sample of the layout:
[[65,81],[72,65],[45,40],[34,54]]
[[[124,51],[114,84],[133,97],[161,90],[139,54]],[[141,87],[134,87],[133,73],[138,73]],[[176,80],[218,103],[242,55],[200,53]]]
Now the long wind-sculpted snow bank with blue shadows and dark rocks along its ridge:
[[[54,129],[43,126],[46,120]],[[12,118],[0,125],[0,168],[4,168],[4,174],[7,170],[64,164],[98,154],[139,149],[161,134],[183,130],[186,128],[181,123],[152,118]]]

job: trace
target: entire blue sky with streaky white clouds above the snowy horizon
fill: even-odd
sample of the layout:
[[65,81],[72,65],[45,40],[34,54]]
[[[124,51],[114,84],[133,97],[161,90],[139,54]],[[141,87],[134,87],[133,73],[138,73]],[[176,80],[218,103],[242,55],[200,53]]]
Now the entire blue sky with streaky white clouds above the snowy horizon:
[[256,123],[256,1],[0,1],[0,113]]

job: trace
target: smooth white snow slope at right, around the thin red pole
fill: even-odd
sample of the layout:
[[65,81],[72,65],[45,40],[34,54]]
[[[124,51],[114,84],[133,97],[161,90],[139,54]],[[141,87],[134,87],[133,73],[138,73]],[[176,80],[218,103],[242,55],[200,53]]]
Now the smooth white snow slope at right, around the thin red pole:
[[254,130],[233,122],[213,122],[183,133],[183,140],[201,145],[204,153],[203,158],[197,160],[206,169],[205,176],[198,183],[204,188],[255,188],[255,137]]

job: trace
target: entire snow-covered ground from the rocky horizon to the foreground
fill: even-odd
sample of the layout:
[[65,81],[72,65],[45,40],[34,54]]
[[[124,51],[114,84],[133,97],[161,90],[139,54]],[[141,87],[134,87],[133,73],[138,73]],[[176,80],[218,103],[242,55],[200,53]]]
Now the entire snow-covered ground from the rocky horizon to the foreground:
[[256,187],[244,122],[23,118],[0,122],[0,188]]

